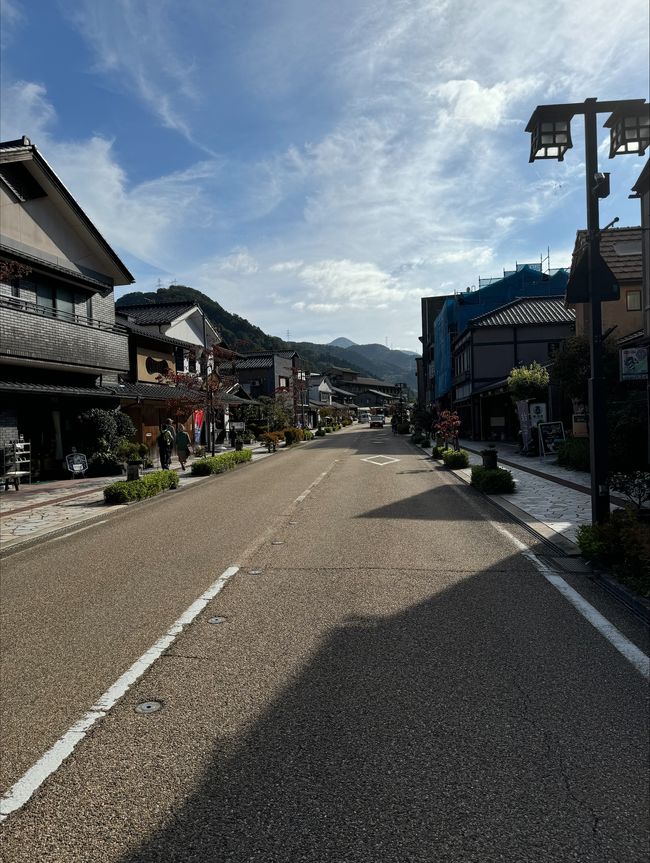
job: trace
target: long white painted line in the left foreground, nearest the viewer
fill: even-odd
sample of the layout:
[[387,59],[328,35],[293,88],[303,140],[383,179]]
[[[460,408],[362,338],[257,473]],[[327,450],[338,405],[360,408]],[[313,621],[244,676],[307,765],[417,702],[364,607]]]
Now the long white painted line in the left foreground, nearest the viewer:
[[224,588],[226,582],[239,570],[238,566],[229,566],[219,578],[210,585],[190,607],[181,614],[167,632],[156,643],[145,651],[133,665],[106,692],[100,696],[90,710],[75,722],[56,743],[42,755],[38,761],[11,786],[0,800],[0,822],[8,815],[20,809],[27,803],[32,794],[40,788],[43,782],[57,770],[63,761],[80,743],[92,726],[109,712],[116,702],[130,689],[144,672],[158,659],[163,651],[176,640],[189,623],[201,612],[208,602]]

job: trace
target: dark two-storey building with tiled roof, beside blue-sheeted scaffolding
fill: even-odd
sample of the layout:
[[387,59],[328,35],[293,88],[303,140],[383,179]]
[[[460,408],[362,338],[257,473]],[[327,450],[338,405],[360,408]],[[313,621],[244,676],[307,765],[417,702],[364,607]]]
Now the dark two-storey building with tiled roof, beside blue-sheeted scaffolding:
[[[475,440],[512,440],[519,429],[507,378],[513,368],[548,365],[574,334],[575,312],[564,295],[513,300],[472,318],[452,343],[452,407],[463,434]],[[549,405],[547,419],[558,417]]]

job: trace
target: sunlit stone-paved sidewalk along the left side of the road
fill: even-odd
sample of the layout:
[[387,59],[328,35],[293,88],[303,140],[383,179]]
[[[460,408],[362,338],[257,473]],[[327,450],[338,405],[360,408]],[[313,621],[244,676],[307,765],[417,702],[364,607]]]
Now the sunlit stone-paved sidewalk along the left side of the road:
[[[253,461],[268,456],[266,447],[255,444],[247,447],[253,452]],[[221,450],[222,452],[224,450]],[[225,450],[226,452],[228,450]],[[181,471],[176,457],[172,459],[172,470],[179,473],[180,488],[202,482],[206,477],[193,477],[188,469]],[[145,473],[159,470],[154,466]],[[104,488],[123,476],[103,476],[86,479],[62,479],[51,482],[26,483],[16,492],[0,490],[0,552],[36,539],[80,529],[93,521],[108,518],[124,506],[107,507],[104,504]]]

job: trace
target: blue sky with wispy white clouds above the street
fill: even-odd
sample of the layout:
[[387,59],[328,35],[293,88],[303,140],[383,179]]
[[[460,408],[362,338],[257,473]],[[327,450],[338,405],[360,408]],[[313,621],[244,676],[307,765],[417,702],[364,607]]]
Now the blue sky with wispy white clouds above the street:
[[[538,104],[648,98],[647,0],[0,0],[0,138],[27,135],[136,283],[265,332],[419,351],[420,298],[568,266],[584,139]],[[607,119],[600,115],[599,128]],[[638,156],[601,225],[638,225]]]

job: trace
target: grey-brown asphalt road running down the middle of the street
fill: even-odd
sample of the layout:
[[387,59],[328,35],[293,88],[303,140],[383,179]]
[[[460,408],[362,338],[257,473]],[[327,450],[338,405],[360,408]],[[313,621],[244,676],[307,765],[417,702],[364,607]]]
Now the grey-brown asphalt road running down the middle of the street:
[[239,571],[7,818],[3,860],[645,863],[646,681],[503,529],[543,553],[364,428],[9,557],[3,790]]

